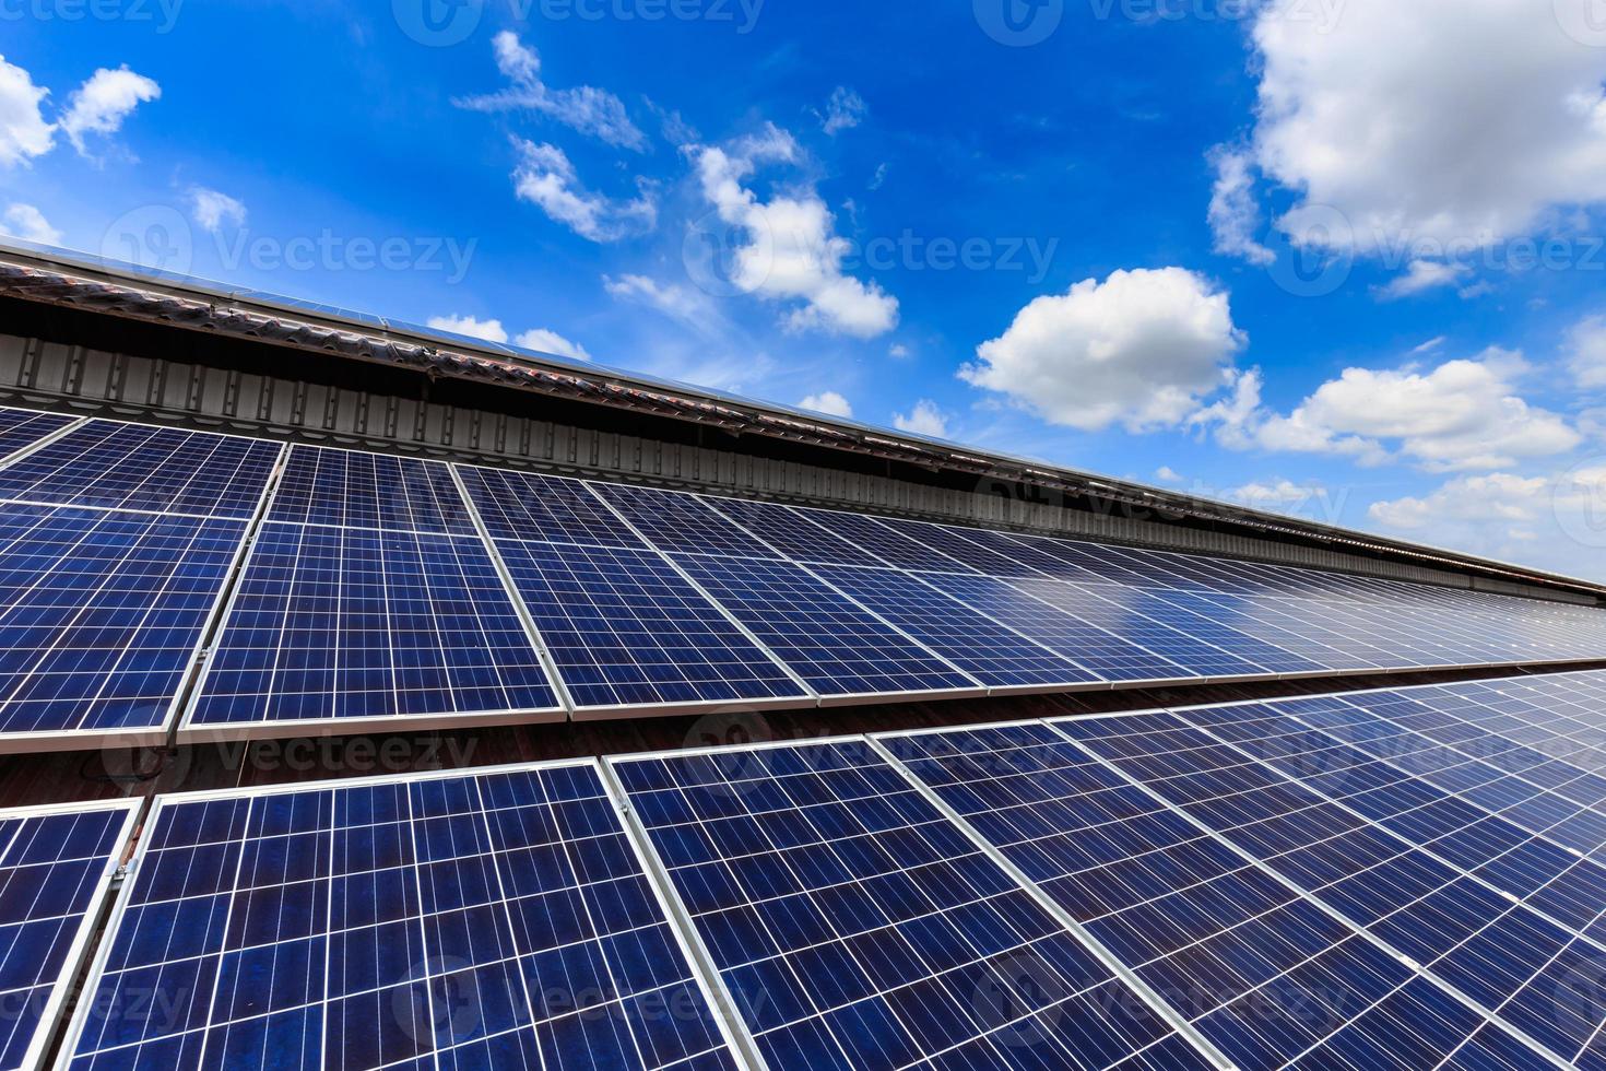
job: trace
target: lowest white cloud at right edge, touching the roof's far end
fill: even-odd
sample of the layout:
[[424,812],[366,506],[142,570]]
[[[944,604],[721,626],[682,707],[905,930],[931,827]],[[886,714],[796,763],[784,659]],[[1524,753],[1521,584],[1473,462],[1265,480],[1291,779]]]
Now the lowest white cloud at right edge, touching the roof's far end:
[[1423,496],[1373,503],[1370,517],[1434,546],[1606,580],[1606,464],[1457,477]]

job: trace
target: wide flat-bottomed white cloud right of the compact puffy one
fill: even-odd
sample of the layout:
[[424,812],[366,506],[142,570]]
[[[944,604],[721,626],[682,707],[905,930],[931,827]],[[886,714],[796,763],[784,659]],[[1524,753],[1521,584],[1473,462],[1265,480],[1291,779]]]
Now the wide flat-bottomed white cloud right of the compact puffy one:
[[1429,472],[1500,469],[1582,442],[1564,417],[1518,395],[1516,381],[1527,371],[1519,353],[1498,348],[1429,371],[1349,368],[1286,416],[1261,408],[1259,374],[1246,373],[1232,400],[1196,422],[1216,424],[1221,442],[1235,450],[1323,453],[1362,464],[1399,456]]

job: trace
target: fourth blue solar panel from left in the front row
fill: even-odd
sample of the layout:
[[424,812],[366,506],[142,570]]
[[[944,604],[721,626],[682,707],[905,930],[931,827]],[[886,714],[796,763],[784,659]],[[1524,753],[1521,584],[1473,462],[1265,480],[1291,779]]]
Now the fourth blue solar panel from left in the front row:
[[1407,1002],[1410,970],[1049,726],[877,740],[1238,1066],[1283,1066],[1301,1040],[1312,1066],[1412,1066],[1346,1060],[1375,1021],[1347,1005],[1363,989]]

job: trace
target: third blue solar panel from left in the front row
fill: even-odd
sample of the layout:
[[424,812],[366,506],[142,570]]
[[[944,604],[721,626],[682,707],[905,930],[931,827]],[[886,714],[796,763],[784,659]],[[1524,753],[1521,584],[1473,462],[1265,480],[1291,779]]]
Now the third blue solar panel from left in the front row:
[[613,769],[776,1071],[1209,1066],[867,745]]

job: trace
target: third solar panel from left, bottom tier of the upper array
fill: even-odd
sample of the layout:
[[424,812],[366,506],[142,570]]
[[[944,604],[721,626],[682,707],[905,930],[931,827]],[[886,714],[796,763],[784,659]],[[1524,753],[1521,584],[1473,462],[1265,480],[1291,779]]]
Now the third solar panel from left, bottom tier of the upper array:
[[655,552],[498,549],[577,707],[808,697]]

